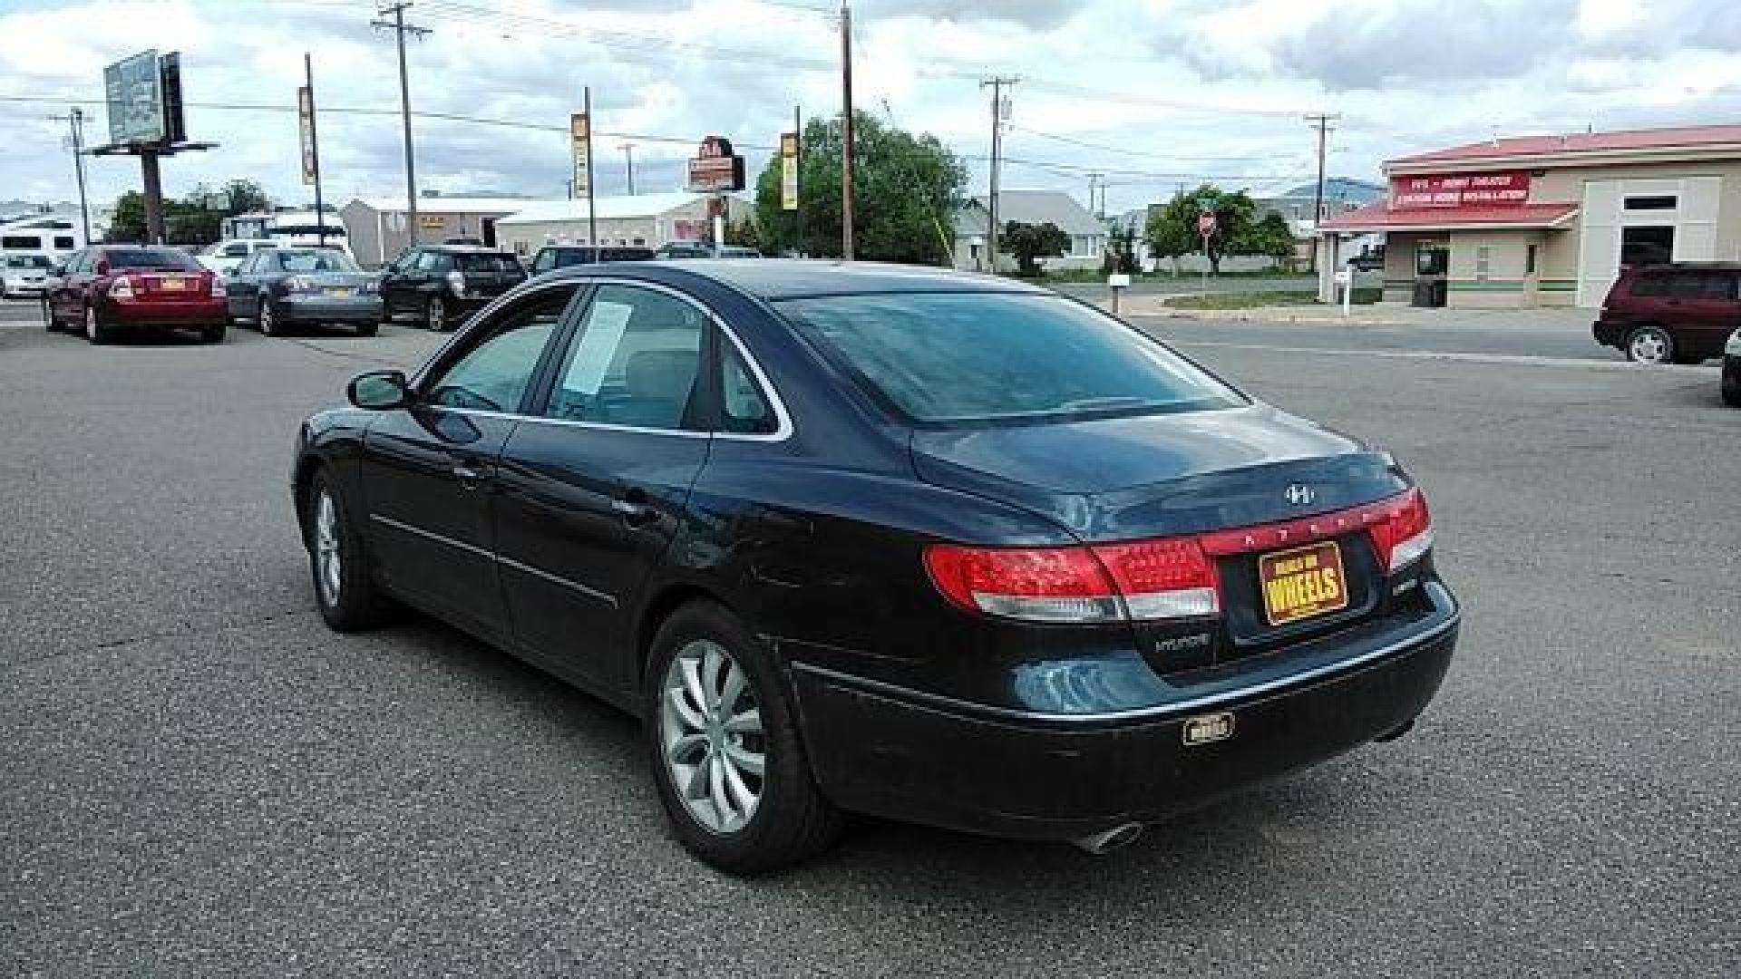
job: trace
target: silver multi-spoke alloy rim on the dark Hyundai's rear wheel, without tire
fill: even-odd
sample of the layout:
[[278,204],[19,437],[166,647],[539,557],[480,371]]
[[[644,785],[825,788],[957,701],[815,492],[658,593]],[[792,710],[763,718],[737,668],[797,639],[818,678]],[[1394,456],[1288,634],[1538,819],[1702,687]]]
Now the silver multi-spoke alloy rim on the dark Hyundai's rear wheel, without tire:
[[684,810],[717,834],[756,817],[768,740],[749,674],[712,639],[695,639],[665,667],[660,754]]

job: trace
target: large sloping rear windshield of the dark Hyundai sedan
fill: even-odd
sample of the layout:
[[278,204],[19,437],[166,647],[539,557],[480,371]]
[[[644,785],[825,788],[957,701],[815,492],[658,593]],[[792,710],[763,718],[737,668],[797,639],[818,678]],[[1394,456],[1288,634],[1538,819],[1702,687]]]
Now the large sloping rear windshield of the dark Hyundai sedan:
[[1240,392],[1062,296],[921,293],[778,308],[884,408],[916,423],[1020,423],[1205,411]]

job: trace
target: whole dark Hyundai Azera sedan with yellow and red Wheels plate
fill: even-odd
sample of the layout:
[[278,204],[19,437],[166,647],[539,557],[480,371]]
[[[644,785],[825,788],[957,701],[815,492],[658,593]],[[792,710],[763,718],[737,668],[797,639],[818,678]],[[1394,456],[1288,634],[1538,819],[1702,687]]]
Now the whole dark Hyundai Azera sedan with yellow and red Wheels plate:
[[1102,852],[1402,735],[1457,639],[1391,456],[1003,279],[575,267],[350,401],[296,449],[326,620],[637,714],[729,871],[843,810]]

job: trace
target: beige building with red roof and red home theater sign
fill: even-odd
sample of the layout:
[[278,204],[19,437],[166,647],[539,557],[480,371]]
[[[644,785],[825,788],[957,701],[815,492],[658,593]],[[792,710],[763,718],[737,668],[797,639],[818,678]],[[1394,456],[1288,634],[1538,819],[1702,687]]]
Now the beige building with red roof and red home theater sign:
[[1527,136],[1384,164],[1386,200],[1320,226],[1386,237],[1384,300],[1598,307],[1621,265],[1741,260],[1741,125]]

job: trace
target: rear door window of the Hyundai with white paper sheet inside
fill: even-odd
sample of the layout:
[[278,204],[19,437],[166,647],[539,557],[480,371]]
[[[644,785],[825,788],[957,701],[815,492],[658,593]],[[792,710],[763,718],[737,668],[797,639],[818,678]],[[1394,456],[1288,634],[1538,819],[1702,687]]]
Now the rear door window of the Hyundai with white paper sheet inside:
[[569,343],[545,413],[564,422],[696,429],[707,314],[677,296],[601,286]]

